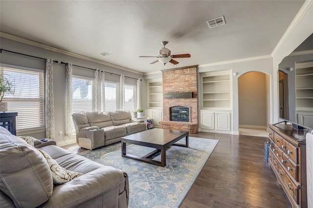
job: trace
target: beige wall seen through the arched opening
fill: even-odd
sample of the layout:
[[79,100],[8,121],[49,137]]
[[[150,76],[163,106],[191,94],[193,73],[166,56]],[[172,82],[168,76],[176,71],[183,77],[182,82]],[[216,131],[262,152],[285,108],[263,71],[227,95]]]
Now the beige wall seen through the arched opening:
[[267,75],[248,72],[238,78],[239,125],[267,125]]

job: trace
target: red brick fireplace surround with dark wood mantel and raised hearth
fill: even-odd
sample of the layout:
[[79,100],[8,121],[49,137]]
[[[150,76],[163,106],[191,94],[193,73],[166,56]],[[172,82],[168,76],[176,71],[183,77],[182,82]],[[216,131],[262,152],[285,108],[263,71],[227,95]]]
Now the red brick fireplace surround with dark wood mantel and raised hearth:
[[[160,122],[160,128],[198,132],[197,67],[162,71],[163,121]],[[171,108],[177,106],[189,109],[189,121],[171,121]]]

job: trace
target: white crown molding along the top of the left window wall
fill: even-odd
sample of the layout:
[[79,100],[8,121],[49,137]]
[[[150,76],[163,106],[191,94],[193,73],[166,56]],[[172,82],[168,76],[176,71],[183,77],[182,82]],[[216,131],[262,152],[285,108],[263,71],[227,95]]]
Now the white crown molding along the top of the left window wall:
[[118,65],[115,65],[115,64],[112,64],[112,63],[108,63],[108,62],[105,62],[105,61],[102,61],[102,60],[98,60],[98,59],[95,59],[95,58],[85,57],[85,56],[82,56],[82,55],[79,55],[79,54],[68,52],[68,51],[65,51],[65,50],[62,50],[62,49],[59,49],[59,48],[48,46],[48,45],[45,45],[45,44],[42,44],[42,43],[39,43],[39,42],[35,42],[35,41],[32,41],[32,40],[28,40],[28,39],[25,39],[25,38],[20,38],[20,37],[17,37],[17,36],[13,36],[13,35],[10,35],[10,34],[7,34],[7,33],[0,32],[0,37],[11,39],[11,40],[15,40],[15,41],[18,41],[18,42],[22,42],[22,43],[25,43],[25,44],[28,44],[28,45],[32,45],[32,46],[36,46],[36,47],[39,47],[39,48],[43,48],[43,49],[46,49],[46,50],[49,50],[49,51],[54,51],[54,52],[57,52],[57,53],[60,53],[60,54],[64,54],[64,55],[67,55],[67,56],[81,58],[81,59],[84,59],[84,60],[87,60],[87,61],[91,61],[91,62],[94,62],[94,63],[99,63],[99,64],[103,64],[103,65],[106,65],[106,66],[111,66],[111,67],[114,67],[114,68],[117,68],[117,69],[121,69],[121,70],[124,70],[124,71],[127,71],[127,72],[132,72],[132,73],[135,73],[135,74],[138,74],[138,75],[144,75],[144,73],[142,73],[142,72],[138,72],[138,71],[135,71],[135,70],[132,70],[132,69],[128,69],[128,68],[125,68],[125,67],[122,67],[122,66],[118,66]]

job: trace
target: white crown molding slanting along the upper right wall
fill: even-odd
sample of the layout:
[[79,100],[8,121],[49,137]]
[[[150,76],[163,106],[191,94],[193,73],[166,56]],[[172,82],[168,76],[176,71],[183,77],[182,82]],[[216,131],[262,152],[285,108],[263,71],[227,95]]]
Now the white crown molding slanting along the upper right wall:
[[291,24],[289,25],[289,27],[287,28],[286,32],[284,33],[284,35],[282,36],[282,38],[280,38],[279,42],[277,43],[276,47],[274,48],[274,50],[271,53],[271,56],[274,57],[277,53],[277,51],[283,46],[283,44],[285,43],[285,41],[288,39],[288,37],[290,36],[291,32],[294,30],[294,28],[298,25],[298,23],[300,22],[300,20],[303,18],[303,16],[307,13],[307,11],[310,9],[310,7],[313,5],[313,0],[306,0],[304,2],[304,4],[302,5],[301,9],[299,10],[299,12],[297,13],[297,15],[295,16],[295,18],[292,20]]

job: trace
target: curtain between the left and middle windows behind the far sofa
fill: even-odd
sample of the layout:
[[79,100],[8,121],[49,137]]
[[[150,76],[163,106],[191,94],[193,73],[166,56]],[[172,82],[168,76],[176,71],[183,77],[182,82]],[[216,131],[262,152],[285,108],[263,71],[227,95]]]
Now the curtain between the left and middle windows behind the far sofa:
[[[95,111],[102,111],[101,109],[101,100],[102,100],[102,103],[104,104],[104,78],[105,78],[105,72],[102,72],[98,69],[96,69],[96,71],[94,72],[94,79],[95,79],[95,82],[94,82],[94,92],[93,92],[93,95],[94,95],[94,110]],[[101,86],[101,83],[102,86]],[[103,93],[103,96],[101,96],[101,90],[102,90],[102,93]],[[103,106],[104,108],[104,106]],[[103,111],[105,111],[105,109],[103,109]]]

